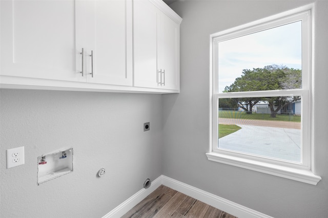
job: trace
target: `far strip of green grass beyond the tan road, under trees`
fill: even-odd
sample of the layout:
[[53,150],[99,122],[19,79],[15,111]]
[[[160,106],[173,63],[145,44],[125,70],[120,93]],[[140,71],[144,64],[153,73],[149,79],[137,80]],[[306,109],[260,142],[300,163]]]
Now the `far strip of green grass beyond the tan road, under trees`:
[[301,122],[301,116],[293,114],[277,114],[277,117],[270,117],[270,114],[255,113],[247,114],[245,111],[219,111],[219,118],[238,118],[238,119],[264,119],[276,121]]

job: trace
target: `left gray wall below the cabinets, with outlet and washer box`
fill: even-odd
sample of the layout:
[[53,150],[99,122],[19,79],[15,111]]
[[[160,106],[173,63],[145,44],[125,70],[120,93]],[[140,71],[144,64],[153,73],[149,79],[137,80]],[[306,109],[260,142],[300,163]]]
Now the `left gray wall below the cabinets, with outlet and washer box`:
[[[2,89],[0,97],[0,217],[102,217],[161,175],[159,94]],[[25,164],[6,169],[6,149],[20,146]],[[74,149],[74,172],[38,186],[37,157],[62,147]]]

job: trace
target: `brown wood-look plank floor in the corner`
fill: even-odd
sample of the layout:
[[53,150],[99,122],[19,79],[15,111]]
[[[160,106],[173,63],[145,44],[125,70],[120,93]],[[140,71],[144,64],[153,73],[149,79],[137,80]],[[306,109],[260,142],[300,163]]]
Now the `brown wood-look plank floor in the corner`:
[[128,217],[237,218],[163,185],[159,186],[121,218]]

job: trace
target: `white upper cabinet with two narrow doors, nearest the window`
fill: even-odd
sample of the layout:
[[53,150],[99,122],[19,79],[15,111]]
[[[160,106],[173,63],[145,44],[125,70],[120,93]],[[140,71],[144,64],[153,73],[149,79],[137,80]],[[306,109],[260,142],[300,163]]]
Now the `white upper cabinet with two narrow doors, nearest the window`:
[[134,1],[134,86],[179,90],[181,18],[160,3]]

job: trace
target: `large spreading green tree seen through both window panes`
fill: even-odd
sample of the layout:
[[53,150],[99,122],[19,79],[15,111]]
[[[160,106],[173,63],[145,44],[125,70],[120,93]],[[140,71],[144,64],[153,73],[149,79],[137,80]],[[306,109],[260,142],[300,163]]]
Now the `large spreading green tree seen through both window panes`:
[[[261,91],[301,88],[301,70],[286,66],[269,65],[263,68],[242,70],[242,75],[236,78],[223,92]],[[271,117],[276,117],[277,112],[290,102],[298,100],[296,97],[286,96],[270,98],[240,98],[238,106],[247,113],[252,113],[253,106],[260,101],[269,102]]]

